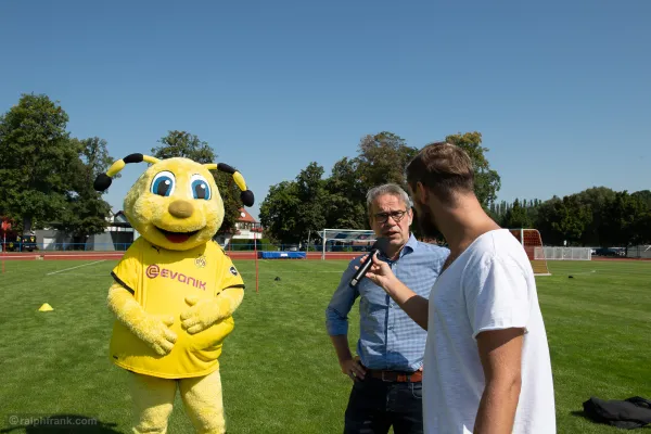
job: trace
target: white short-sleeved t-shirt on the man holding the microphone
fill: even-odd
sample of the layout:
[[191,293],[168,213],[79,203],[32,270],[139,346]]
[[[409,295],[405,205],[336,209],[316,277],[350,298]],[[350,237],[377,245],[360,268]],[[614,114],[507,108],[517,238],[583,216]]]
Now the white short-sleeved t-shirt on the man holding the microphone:
[[507,229],[478,237],[430,294],[423,367],[426,434],[472,433],[484,392],[476,335],[525,328],[522,387],[513,433],[556,433],[553,382],[536,281]]

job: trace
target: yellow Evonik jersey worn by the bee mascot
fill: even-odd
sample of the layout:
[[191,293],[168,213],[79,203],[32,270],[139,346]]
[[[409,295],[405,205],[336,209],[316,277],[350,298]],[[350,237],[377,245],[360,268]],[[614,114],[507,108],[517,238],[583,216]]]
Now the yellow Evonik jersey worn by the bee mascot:
[[[113,278],[133,293],[148,314],[173,315],[170,327],[178,340],[167,356],[158,356],[124,324],[115,321],[110,354],[127,370],[165,379],[206,375],[219,368],[224,327],[210,327],[194,335],[181,328],[186,297],[215,297],[227,288],[244,288],[231,259],[214,241],[190,251],[157,247],[139,238],[113,269]],[[233,318],[229,332],[234,327]]]

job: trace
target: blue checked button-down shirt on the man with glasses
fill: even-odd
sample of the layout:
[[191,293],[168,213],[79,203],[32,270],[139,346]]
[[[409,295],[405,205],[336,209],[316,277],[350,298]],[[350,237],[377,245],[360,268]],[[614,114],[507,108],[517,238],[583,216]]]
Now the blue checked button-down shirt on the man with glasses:
[[[394,275],[418,295],[429,298],[449,251],[418,241],[413,234],[400,251],[398,259],[388,263]],[[359,341],[357,354],[370,369],[416,371],[422,367],[427,332],[421,329],[386,292],[370,279],[357,289],[350,278],[360,258],[353,259],[344,271],[339,288],[326,309],[326,326],[332,336],[348,334],[348,312],[359,301]]]

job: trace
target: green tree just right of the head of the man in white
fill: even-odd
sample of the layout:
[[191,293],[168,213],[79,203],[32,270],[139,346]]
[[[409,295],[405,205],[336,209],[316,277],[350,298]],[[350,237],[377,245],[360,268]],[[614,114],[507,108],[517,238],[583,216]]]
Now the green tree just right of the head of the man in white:
[[490,168],[488,158],[486,158],[488,148],[482,146],[482,133],[473,131],[463,135],[450,135],[445,140],[462,148],[472,159],[475,175],[475,195],[484,208],[488,209],[497,199],[497,192],[501,188],[501,179],[497,171]]

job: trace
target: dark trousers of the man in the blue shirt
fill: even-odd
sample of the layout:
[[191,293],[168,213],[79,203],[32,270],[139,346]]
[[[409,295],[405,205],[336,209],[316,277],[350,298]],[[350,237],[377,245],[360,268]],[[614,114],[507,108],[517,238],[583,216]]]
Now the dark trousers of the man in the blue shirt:
[[367,375],[353,385],[344,434],[422,434],[422,383],[385,382]]

